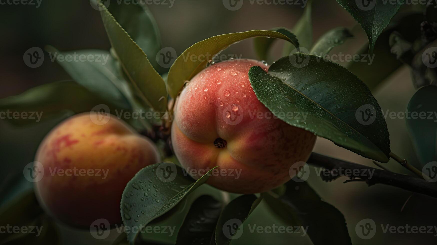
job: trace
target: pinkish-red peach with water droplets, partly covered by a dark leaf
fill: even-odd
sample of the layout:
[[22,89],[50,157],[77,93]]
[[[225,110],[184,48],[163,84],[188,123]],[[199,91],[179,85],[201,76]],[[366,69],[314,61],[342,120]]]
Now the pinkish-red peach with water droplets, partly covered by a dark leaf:
[[291,165],[308,160],[316,140],[271,117],[250,85],[252,66],[268,69],[236,59],[202,70],[180,94],[172,125],[173,151],[187,172],[198,179],[219,166],[207,183],[233,193],[260,193],[287,182]]

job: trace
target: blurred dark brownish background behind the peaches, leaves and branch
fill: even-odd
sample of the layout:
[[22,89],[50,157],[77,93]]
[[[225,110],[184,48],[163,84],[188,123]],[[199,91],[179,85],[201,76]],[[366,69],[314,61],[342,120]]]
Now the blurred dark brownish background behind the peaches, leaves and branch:
[[[221,0],[175,0],[171,8],[163,5],[150,5],[149,8],[159,26],[162,46],[173,47],[177,54],[195,42],[214,35],[253,29],[267,30],[278,26],[291,29],[303,12],[300,6],[257,4],[243,4],[240,10],[229,11]],[[325,31],[337,26],[355,30],[356,37],[348,40],[341,48],[336,48],[334,52],[341,50],[343,53],[354,54],[367,42],[364,31],[334,0],[315,0],[312,20],[314,40]],[[58,63],[50,60],[47,53],[42,66],[38,68],[26,66],[23,55],[31,47],[44,49],[45,45],[52,45],[61,51],[110,48],[100,12],[91,7],[89,0],[42,0],[38,8],[35,5],[0,5],[0,27],[0,98],[20,94],[40,84],[70,78]],[[256,58],[252,42],[253,40],[240,42],[232,45],[225,52],[243,54],[245,58]],[[275,58],[280,57],[282,44],[282,41],[278,41],[274,45]],[[415,92],[409,76],[408,68],[402,67],[374,91],[375,98],[382,109],[405,111],[409,98]],[[38,143],[59,120],[53,119],[24,127],[11,126],[0,120],[0,153],[2,154],[0,159],[4,161],[2,165],[5,166],[3,168],[5,172],[2,174],[3,185],[8,183],[7,180],[22,177],[20,171],[24,165],[33,161]],[[387,119],[387,124],[392,151],[421,169],[405,121]],[[371,160],[337,147],[328,140],[319,138],[314,151],[373,166]],[[385,165],[394,172],[409,174],[394,161]],[[314,172],[314,168],[311,169]],[[437,225],[436,200],[414,194],[401,211],[411,193],[389,186],[368,187],[362,182],[343,184],[343,181],[344,179],[339,179],[325,183],[316,174],[312,174],[309,179],[309,183],[319,192],[319,195],[344,214],[354,244],[437,244],[437,238],[434,237],[437,236],[435,230],[433,234],[384,234],[380,226],[380,224],[384,226],[386,224]],[[14,188],[8,186],[7,189],[6,192],[9,193]],[[6,196],[7,193],[2,195]],[[264,219],[264,223],[275,222],[261,209],[256,211],[254,217]],[[377,224],[375,238],[370,240],[358,238],[355,232],[356,224],[365,218],[371,218]],[[252,217],[250,219],[252,222],[257,222]],[[264,234],[262,238],[257,238],[257,241],[277,241],[271,244],[311,244],[307,238],[299,238],[298,235],[275,236],[275,234]],[[245,243],[241,238],[232,244]]]

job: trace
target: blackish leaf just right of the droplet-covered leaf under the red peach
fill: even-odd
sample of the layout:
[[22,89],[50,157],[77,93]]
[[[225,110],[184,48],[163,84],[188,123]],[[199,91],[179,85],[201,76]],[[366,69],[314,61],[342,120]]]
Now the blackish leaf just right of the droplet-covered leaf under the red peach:
[[212,196],[201,196],[191,205],[177,233],[176,245],[209,244],[214,239],[215,226],[222,204]]

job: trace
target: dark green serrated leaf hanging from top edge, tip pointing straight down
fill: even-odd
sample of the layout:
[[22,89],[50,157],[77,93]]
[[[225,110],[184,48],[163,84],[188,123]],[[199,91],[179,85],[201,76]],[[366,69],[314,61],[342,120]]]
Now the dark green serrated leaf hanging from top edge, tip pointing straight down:
[[379,0],[337,0],[360,23],[369,38],[369,53],[373,53],[376,39],[398,12],[403,0],[395,3]]

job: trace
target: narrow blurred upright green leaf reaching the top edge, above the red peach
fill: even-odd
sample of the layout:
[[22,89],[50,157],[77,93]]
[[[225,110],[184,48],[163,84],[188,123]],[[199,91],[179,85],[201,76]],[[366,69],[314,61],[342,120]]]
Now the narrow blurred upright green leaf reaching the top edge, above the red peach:
[[[291,31],[299,39],[300,47],[310,49],[312,46],[312,0],[308,0],[305,10],[298,20],[296,25],[291,29]],[[293,51],[293,46],[289,43],[285,43],[283,55],[288,56],[290,52]]]

